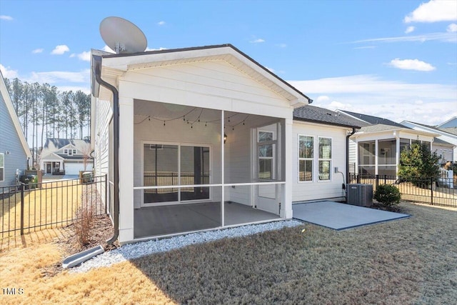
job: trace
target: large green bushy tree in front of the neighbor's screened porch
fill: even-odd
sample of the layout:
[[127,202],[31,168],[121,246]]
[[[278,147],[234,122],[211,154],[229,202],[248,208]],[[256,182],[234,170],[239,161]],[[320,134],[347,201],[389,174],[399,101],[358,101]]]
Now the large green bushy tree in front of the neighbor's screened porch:
[[440,166],[436,152],[430,151],[429,144],[413,143],[410,149],[401,151],[398,176],[403,181],[438,179]]

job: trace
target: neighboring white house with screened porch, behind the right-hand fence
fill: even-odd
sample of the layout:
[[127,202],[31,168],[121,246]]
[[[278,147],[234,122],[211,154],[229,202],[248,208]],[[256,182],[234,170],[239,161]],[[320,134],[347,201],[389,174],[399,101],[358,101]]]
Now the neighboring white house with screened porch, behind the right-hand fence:
[[349,163],[351,173],[396,176],[400,153],[412,143],[425,143],[431,151],[452,144],[437,140],[436,132],[414,130],[394,121],[377,116],[338,110],[339,114],[357,119],[361,129],[350,137]]

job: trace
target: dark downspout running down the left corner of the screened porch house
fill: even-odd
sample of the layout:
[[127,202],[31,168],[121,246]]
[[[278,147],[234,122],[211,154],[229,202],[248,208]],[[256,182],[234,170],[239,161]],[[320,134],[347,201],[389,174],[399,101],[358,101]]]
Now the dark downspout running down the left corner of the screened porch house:
[[94,56],[95,79],[113,93],[113,154],[114,154],[114,234],[106,243],[111,245],[119,236],[119,92],[115,86],[101,79],[101,56]]

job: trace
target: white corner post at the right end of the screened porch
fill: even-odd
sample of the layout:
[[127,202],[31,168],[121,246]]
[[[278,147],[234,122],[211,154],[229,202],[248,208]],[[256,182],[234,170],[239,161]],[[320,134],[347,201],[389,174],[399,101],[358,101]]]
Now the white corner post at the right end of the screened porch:
[[293,155],[295,154],[292,151],[292,119],[284,119],[284,128],[283,128],[283,137],[284,137],[284,147],[283,147],[283,162],[284,162],[284,181],[286,184],[283,184],[282,198],[281,198],[281,214],[280,216],[283,219],[292,218],[292,183],[293,183],[293,166],[292,160]]

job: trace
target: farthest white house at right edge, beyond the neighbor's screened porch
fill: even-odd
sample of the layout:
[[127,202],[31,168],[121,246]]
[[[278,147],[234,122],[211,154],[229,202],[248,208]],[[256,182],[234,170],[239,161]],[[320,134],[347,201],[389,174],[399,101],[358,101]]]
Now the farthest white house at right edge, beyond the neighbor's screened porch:
[[438,126],[419,124],[413,121],[402,121],[401,124],[414,130],[429,131],[439,134],[439,139],[433,142],[433,151],[440,156],[441,164],[447,161],[457,161],[457,119],[444,122]]

